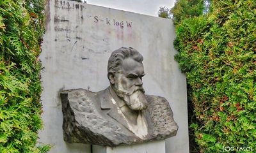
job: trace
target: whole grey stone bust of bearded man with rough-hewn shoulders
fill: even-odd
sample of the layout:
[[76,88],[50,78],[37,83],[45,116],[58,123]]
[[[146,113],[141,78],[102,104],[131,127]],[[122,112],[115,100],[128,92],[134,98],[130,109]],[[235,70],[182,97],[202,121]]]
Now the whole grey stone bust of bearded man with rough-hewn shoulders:
[[109,57],[107,89],[61,92],[66,142],[115,147],[176,135],[168,101],[145,95],[142,61],[134,48],[119,48]]

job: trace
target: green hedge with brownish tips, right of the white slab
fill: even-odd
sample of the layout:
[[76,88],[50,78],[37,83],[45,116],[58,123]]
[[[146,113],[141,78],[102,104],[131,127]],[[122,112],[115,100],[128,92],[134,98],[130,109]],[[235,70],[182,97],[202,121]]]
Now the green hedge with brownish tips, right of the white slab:
[[214,0],[209,10],[175,24],[194,109],[191,152],[255,152],[256,1]]

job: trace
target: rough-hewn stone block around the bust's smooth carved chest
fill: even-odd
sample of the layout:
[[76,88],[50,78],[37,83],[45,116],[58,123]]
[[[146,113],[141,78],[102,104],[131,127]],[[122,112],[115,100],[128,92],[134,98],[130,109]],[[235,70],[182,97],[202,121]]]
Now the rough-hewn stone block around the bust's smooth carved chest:
[[[99,102],[106,100],[106,90],[91,92],[75,89],[61,92],[63,135],[66,142],[115,147],[163,140],[176,135],[178,126],[165,98],[146,95],[148,135],[141,139],[116,120],[109,120],[101,111]],[[104,111],[108,112],[108,109]]]

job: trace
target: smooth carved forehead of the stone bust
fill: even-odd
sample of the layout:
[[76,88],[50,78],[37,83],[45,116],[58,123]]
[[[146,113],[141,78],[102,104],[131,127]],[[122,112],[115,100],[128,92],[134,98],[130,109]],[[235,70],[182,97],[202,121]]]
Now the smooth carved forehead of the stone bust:
[[143,64],[137,61],[134,61],[132,58],[127,58],[122,64],[122,70],[124,73],[136,73],[138,75],[144,74]]

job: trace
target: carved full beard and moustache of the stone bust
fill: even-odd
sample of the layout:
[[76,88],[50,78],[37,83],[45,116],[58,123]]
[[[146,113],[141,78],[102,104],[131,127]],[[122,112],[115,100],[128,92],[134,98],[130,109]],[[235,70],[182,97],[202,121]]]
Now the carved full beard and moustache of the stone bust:
[[129,91],[125,91],[117,84],[116,94],[122,98],[131,110],[145,110],[148,107],[147,99],[145,98],[143,87],[136,87],[133,85]]

